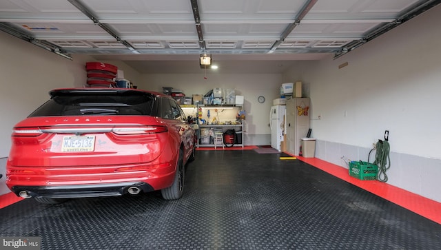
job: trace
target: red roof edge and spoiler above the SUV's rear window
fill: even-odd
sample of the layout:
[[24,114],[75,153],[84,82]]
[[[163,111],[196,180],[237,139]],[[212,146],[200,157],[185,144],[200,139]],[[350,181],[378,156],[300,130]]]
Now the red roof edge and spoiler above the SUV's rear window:
[[59,96],[59,94],[69,94],[69,93],[125,93],[125,92],[134,92],[134,93],[146,93],[152,94],[153,96],[163,96],[166,98],[172,98],[171,96],[167,96],[166,94],[160,92],[154,92],[150,90],[139,90],[139,89],[129,89],[129,88],[96,88],[96,87],[79,87],[79,88],[60,88],[54,89],[49,92],[51,97]]

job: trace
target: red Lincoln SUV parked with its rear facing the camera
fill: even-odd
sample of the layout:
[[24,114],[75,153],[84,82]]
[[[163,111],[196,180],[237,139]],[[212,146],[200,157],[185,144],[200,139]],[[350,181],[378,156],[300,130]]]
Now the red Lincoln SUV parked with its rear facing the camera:
[[173,98],[134,89],[52,90],[15,125],[6,185],[23,198],[181,198],[196,135]]

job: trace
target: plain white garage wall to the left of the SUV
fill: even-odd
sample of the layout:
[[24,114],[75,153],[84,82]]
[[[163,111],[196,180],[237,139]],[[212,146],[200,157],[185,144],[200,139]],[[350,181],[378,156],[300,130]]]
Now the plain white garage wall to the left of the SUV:
[[70,61],[28,42],[0,32],[0,195],[4,185],[10,134],[15,123],[48,100],[48,92],[58,87],[81,87],[86,81],[85,62],[89,56]]

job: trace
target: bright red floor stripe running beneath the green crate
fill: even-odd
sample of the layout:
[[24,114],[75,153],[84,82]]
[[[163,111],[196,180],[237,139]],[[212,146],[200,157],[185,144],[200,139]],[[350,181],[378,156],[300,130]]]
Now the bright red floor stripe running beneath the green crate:
[[328,163],[325,160],[320,160],[318,158],[304,158],[302,156],[298,156],[298,159],[345,180],[348,183],[361,187],[372,194],[376,194],[377,196],[389,200],[396,205],[409,209],[414,213],[418,213],[420,216],[441,224],[440,202],[436,202],[435,200],[425,198],[418,194],[413,194],[409,191],[394,187],[387,183],[382,183],[378,180],[359,180],[358,178],[353,178],[352,176],[349,176],[349,170],[345,167]]

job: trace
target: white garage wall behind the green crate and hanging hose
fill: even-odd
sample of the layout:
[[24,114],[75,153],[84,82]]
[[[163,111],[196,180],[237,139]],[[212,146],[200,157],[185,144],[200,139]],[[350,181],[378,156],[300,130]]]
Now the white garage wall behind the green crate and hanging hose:
[[438,6],[339,59],[302,65],[318,158],[367,160],[388,129],[388,183],[441,201],[440,15]]

